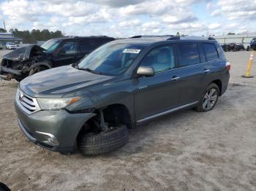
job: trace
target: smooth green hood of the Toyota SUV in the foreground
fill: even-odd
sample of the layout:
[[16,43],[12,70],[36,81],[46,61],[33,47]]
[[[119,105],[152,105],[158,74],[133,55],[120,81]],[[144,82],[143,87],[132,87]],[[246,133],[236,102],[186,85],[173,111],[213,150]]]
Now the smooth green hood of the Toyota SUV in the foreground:
[[105,82],[113,77],[91,74],[72,66],[41,71],[20,82],[20,89],[33,97],[62,97],[74,90]]

